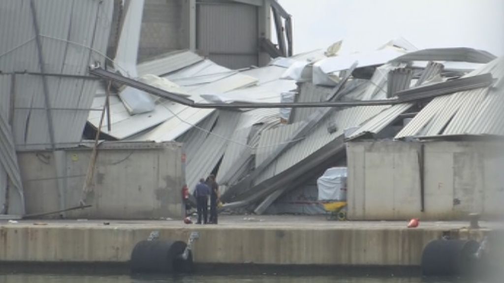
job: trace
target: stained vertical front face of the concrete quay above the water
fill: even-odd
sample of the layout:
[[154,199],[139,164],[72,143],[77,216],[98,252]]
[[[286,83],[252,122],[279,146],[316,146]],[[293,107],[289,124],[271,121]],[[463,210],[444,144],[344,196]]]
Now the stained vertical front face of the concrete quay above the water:
[[442,230],[363,228],[148,228],[3,226],[0,261],[128,262],[153,230],[194,246],[198,263],[418,266],[423,248]]

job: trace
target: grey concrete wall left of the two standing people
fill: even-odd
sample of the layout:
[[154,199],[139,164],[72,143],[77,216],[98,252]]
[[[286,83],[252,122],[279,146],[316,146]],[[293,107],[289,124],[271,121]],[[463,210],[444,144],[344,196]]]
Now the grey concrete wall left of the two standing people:
[[[91,149],[18,154],[27,214],[79,205]],[[88,219],[159,219],[182,216],[184,182],[178,143],[106,143],[98,152],[91,208],[64,216]],[[49,217],[59,217],[58,214]]]

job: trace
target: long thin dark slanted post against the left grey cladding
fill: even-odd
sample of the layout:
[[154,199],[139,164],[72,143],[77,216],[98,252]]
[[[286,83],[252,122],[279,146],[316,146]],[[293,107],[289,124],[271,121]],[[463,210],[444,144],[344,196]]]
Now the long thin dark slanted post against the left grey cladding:
[[51,112],[51,102],[49,99],[49,87],[47,86],[47,78],[44,76],[45,74],[45,66],[44,66],[44,58],[42,57],[42,44],[40,43],[40,30],[38,27],[38,21],[37,21],[37,15],[35,11],[35,1],[31,0],[30,1],[30,7],[31,7],[31,12],[32,12],[32,18],[33,18],[33,28],[35,30],[35,42],[37,43],[37,52],[38,52],[38,63],[40,65],[40,72],[42,73],[42,85],[44,88],[44,98],[45,98],[45,109],[47,113],[47,124],[49,128],[49,138],[51,142],[51,149],[54,150],[54,127],[52,123],[52,112]]

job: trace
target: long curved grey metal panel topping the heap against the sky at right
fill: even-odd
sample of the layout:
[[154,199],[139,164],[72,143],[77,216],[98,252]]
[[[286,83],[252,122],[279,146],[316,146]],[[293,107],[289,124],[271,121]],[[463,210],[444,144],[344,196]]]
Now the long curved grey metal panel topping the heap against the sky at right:
[[402,55],[395,58],[393,61],[461,61],[471,63],[488,63],[495,58],[495,55],[487,51],[466,47],[456,47],[423,49]]

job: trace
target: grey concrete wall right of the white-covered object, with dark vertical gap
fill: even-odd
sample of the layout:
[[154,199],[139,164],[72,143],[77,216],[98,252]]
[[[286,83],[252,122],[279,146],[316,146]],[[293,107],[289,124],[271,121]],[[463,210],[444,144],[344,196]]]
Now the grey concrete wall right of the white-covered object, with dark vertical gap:
[[425,142],[424,212],[420,202],[420,143],[351,142],[348,218],[465,219],[504,212],[504,146],[496,142]]

